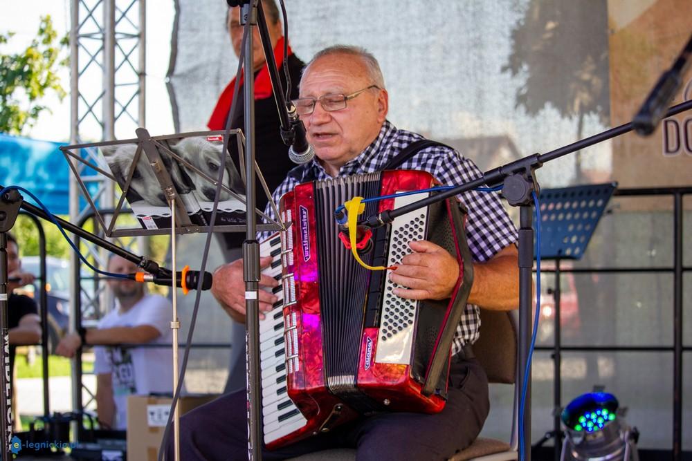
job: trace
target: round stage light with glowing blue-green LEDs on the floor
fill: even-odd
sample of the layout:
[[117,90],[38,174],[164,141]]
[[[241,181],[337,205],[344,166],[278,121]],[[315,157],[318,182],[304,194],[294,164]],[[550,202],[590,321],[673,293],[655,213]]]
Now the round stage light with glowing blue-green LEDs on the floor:
[[565,407],[562,461],[638,461],[639,431],[624,419],[614,395],[592,392],[580,395]]

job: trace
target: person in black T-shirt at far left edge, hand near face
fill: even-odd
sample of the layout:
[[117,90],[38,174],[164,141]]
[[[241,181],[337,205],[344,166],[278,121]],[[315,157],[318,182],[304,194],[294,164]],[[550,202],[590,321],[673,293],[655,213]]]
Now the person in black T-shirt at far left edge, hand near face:
[[38,344],[41,341],[41,319],[38,315],[36,302],[24,294],[15,294],[13,291],[28,283],[33,283],[34,276],[28,272],[21,272],[21,260],[19,259],[19,247],[12,234],[8,234],[7,242],[7,292],[8,299],[8,328],[10,334],[10,382],[15,370],[15,350],[17,346]]

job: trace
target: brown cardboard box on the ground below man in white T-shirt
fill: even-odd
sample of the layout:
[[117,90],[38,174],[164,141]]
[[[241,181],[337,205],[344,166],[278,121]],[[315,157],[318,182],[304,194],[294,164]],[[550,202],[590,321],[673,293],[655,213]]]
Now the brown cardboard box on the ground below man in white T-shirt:
[[[206,404],[218,395],[186,395],[180,398],[180,414]],[[130,395],[127,397],[127,459],[156,461],[166,429],[171,397]],[[170,435],[172,437],[172,434]]]

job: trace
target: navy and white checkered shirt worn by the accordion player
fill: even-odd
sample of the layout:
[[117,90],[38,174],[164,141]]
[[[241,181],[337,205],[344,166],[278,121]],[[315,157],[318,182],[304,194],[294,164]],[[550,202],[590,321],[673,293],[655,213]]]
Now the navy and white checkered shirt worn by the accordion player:
[[[385,120],[377,138],[359,156],[343,165],[339,170],[339,176],[380,171],[402,149],[421,139],[421,135],[399,130]],[[404,162],[400,169],[428,171],[442,185],[462,185],[482,176],[480,169],[471,160],[464,158],[457,151],[439,145],[422,149]],[[313,158],[289,172],[284,182],[274,191],[273,200],[279,203],[286,192],[292,191],[295,186],[307,180],[326,179],[331,179],[331,176]],[[507,245],[516,243],[516,227],[502,207],[498,194],[466,191],[457,197],[468,208],[466,240],[474,261],[488,261]],[[275,218],[269,205],[265,212]],[[269,233],[265,233],[262,237],[266,238],[268,235]],[[478,306],[467,304],[454,335],[453,354],[457,354],[464,344],[473,344],[478,339],[479,327]]]

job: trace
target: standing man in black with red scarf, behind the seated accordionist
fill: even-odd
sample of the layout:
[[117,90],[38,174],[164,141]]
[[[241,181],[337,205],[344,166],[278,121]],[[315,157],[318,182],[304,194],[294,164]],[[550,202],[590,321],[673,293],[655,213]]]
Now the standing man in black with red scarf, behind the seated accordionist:
[[[280,21],[280,12],[274,0],[263,0],[262,8],[264,9],[264,17],[267,21],[267,29],[269,39],[274,50],[274,59],[276,66],[279,69],[279,80],[282,85],[286,83],[286,68],[284,68],[284,37],[282,23]],[[230,41],[233,44],[233,51],[236,56],[240,55],[243,26],[239,22],[240,8],[228,8],[226,16],[226,25],[230,35]],[[271,88],[271,80],[269,79],[269,71],[264,59],[262,50],[262,42],[260,41],[260,32],[255,27],[253,29],[253,72],[255,75],[255,160],[260,166],[262,176],[266,180],[267,187],[273,191],[286,178],[286,173],[295,164],[289,159],[289,147],[284,144],[280,133],[279,114],[276,109],[276,103]],[[304,63],[293,54],[291,47],[288,46],[287,68],[291,77],[291,93],[287,100],[298,97],[298,82],[300,81],[300,73]],[[243,77],[244,78],[244,77]],[[245,129],[245,116],[243,111],[243,79],[240,81],[238,90],[238,98],[234,114],[230,114],[230,107],[233,102],[233,88],[235,86],[235,78],[230,81],[224,92],[219,96],[219,100],[214,111],[207,123],[210,130],[222,130],[226,128],[226,122],[230,117],[230,127],[232,129]],[[284,87],[285,91],[285,87]],[[284,95],[285,96],[285,95]],[[238,160],[238,152],[234,142],[229,144],[230,156],[235,163],[235,167],[240,171]],[[267,198],[262,189],[260,181],[257,181],[255,189],[255,197],[257,198],[257,209],[264,210],[266,207]],[[245,240],[244,232],[224,233],[221,234],[221,245],[226,249],[226,261],[233,261],[242,256],[242,244]],[[228,312],[231,314],[232,312]],[[244,344],[244,323],[234,322],[231,327],[231,342],[241,341]],[[235,340],[235,341],[234,341]],[[235,346],[235,344],[234,344]],[[228,380],[226,382],[225,392],[233,391],[237,388],[245,386],[245,360],[244,346],[233,347],[230,353],[230,370]]]

